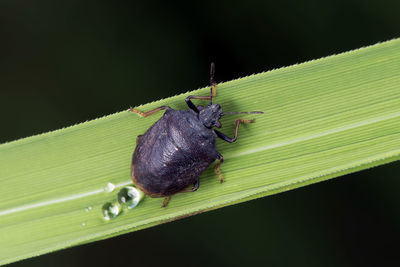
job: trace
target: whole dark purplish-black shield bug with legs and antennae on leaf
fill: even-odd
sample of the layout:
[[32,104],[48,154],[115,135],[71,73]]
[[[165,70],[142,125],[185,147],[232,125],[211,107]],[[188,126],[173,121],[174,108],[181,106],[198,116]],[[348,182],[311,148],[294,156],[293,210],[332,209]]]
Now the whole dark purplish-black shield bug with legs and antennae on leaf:
[[[220,118],[227,114],[263,112],[223,113],[221,106],[213,104],[216,94],[214,81],[215,65],[211,63],[209,96],[188,96],[185,101],[189,110],[174,110],[168,106],[141,112],[130,111],[142,117],[150,116],[160,110],[164,115],[143,135],[136,139],[136,148],[132,157],[131,176],[133,182],[150,197],[164,197],[165,207],[169,197],[178,192],[194,192],[199,189],[199,176],[215,160],[214,169],[222,183],[219,170],[224,158],[216,149],[216,138],[233,143],[238,136],[241,123],[253,123],[253,120],[235,120],[234,137],[230,138],[213,127],[221,128]],[[192,99],[208,100],[206,107],[196,106]],[[192,188],[188,188],[193,185]]]

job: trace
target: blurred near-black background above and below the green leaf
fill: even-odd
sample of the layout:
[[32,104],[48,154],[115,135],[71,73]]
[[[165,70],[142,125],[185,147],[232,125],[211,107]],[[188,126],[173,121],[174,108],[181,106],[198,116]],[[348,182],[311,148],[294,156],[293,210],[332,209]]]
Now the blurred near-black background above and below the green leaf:
[[[1,1],[0,142],[400,36],[400,1]],[[392,163],[17,266],[399,263]]]

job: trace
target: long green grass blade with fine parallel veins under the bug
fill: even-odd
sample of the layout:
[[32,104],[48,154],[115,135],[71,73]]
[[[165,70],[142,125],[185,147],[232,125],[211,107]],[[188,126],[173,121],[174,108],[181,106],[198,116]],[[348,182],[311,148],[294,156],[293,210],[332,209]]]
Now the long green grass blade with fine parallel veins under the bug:
[[[0,263],[136,231],[399,159],[400,40],[219,84],[224,111],[264,111],[241,125],[225,162],[195,193],[139,205],[105,221],[102,206],[131,184],[148,118],[123,111],[0,146]],[[204,70],[208,71],[208,70]],[[208,88],[190,92],[206,95]],[[188,95],[189,93],[185,94]],[[139,107],[186,109],[179,95]],[[237,116],[236,116],[237,117]],[[233,136],[235,116],[222,119]],[[104,191],[107,183],[117,188]]]

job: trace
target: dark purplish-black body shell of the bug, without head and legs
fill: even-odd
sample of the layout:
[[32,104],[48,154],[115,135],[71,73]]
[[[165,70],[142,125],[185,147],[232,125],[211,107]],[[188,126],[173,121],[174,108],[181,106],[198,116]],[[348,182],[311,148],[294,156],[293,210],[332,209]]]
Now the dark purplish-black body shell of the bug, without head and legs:
[[136,140],[131,166],[133,181],[151,197],[182,191],[217,159],[216,137],[193,110],[168,108]]

